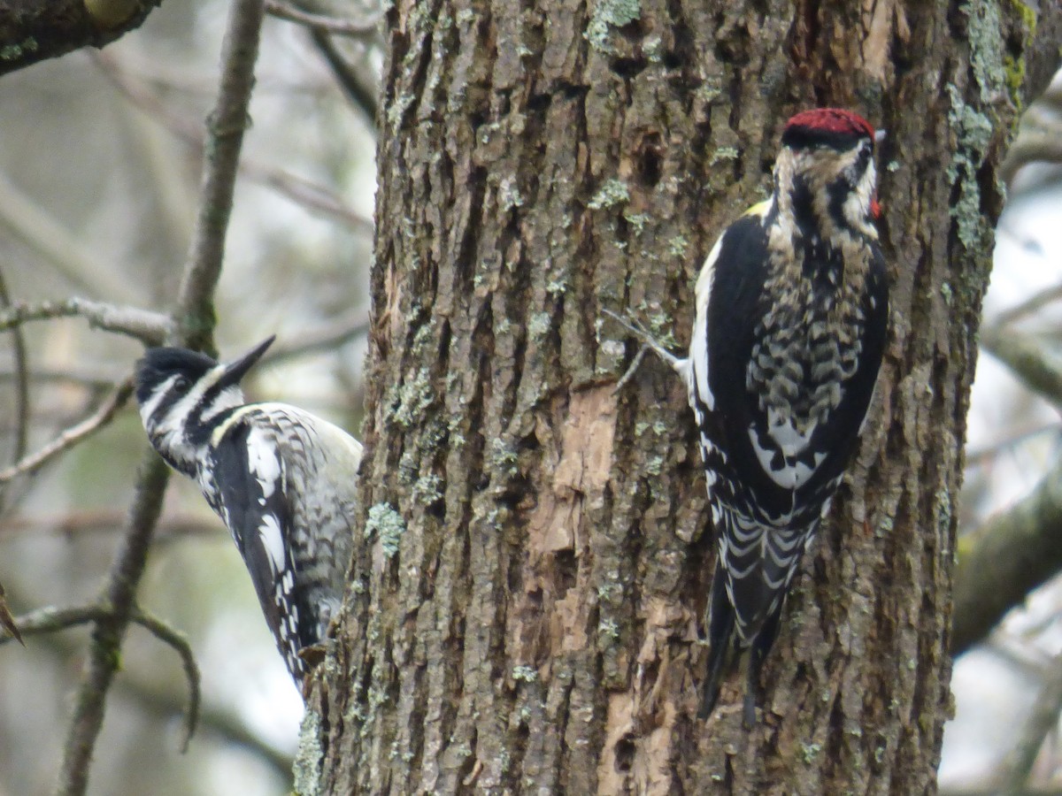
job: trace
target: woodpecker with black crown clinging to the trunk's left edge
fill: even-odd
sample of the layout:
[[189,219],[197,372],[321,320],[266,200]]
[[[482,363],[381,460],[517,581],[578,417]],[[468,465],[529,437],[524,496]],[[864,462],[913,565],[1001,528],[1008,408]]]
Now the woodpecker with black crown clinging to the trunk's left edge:
[[150,348],[137,363],[140,418],[155,450],[196,481],[233,534],[295,681],[299,651],[339,610],[353,546],[361,444],[286,403],[245,403],[240,380],[273,343],[218,363]]

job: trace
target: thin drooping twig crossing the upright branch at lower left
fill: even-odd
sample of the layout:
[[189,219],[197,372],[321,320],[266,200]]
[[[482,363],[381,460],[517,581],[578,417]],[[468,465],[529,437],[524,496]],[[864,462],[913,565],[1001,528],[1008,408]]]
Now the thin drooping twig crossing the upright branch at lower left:
[[[16,637],[39,636],[47,633],[66,630],[70,627],[86,625],[90,622],[100,623],[112,619],[114,611],[102,605],[82,605],[71,608],[47,607],[23,615],[15,620]],[[185,711],[185,729],[181,741],[181,751],[188,750],[188,742],[195,732],[200,712],[200,671],[192,655],[191,645],[184,634],[170,627],[166,622],[139,608],[134,608],[129,616],[131,622],[140,625],[156,639],[168,644],[181,658],[181,667],[188,679],[188,708]],[[11,641],[11,637],[0,636],[0,644]]]

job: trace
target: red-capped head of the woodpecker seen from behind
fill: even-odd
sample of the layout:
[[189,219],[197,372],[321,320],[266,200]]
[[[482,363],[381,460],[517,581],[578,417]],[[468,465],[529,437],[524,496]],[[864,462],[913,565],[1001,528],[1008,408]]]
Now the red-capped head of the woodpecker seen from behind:
[[[884,133],[842,108],[812,108],[792,117],[775,165],[777,190],[792,204],[815,203],[817,214],[866,231],[879,212],[874,144]],[[872,228],[872,227],[871,227]]]

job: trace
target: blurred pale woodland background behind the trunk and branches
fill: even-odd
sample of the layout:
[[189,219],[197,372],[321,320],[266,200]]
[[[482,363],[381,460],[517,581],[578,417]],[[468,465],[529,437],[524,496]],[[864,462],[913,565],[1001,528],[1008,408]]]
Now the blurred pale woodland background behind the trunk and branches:
[[[324,6],[321,6],[324,7]],[[0,276],[14,301],[83,296],[168,311],[196,205],[225,3],[164,3],[102,53],[76,52],[0,80]],[[372,6],[337,16],[371,21]],[[218,292],[222,356],[271,333],[245,381],[357,434],[372,258],[375,34],[311,34],[267,20]],[[1024,122],[1062,140],[1062,80]],[[1062,367],[1062,168],[1026,148],[1011,163],[986,322]],[[1049,150],[1049,148],[1048,148]],[[883,165],[885,166],[885,165]],[[887,197],[886,197],[887,201]],[[0,308],[2,311],[2,308]],[[18,450],[18,346],[0,344],[0,469]],[[22,327],[36,450],[91,414],[141,346],[80,318]],[[1008,511],[1059,462],[1062,396],[983,356],[970,414],[961,533]],[[131,405],[30,479],[0,485],[0,584],[20,615],[93,601],[145,439]],[[108,697],[90,793],[124,796],[291,788],[302,700],[262,622],[243,564],[191,482],[175,477],[140,604],[187,634],[203,716],[179,754],[187,685],[172,650],[133,627]],[[1037,590],[957,661],[941,791],[991,793],[1045,683],[1062,670],[1062,581]],[[87,630],[0,645],[0,796],[49,794]],[[1059,695],[1062,702],[1062,693]],[[1054,706],[1030,784],[1062,793]]]

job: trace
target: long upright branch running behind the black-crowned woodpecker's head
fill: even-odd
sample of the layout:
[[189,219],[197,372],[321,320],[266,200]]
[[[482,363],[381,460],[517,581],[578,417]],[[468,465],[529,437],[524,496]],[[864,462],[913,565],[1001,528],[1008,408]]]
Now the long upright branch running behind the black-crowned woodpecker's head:
[[[263,16],[262,0],[235,0],[229,10],[217,104],[207,121],[195,228],[173,312],[176,329],[167,338],[170,343],[211,352],[216,323],[213,294],[224,258]],[[121,659],[122,642],[168,479],[166,465],[154,451],[147,452],[125,536],[107,575],[104,600],[112,612],[93,622],[89,659],[75,699],[56,786],[61,796],[81,796],[87,788],[107,690]]]

